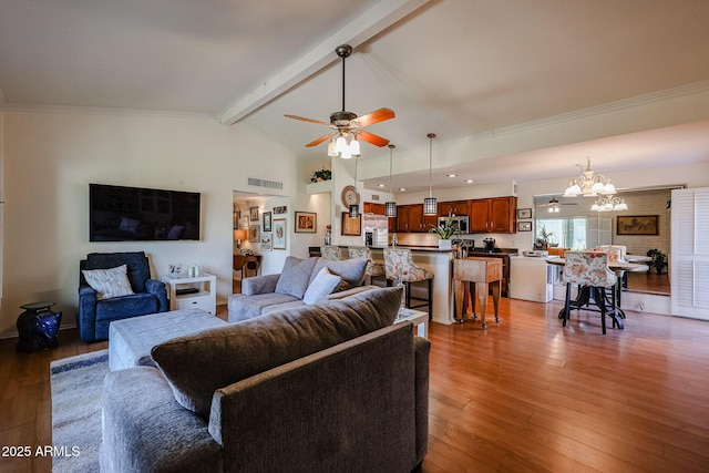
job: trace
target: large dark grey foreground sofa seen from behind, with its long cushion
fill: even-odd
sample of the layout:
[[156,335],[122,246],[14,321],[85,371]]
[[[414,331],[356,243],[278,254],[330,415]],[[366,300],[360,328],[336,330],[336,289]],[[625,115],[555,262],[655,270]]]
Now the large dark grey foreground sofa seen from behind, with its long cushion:
[[106,472],[409,472],[428,449],[428,340],[401,289],[164,341],[106,376]]

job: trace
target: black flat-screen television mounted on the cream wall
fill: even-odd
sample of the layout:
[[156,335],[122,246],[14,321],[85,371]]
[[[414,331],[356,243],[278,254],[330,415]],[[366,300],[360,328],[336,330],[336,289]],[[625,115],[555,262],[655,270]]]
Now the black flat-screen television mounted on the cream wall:
[[89,184],[90,241],[184,239],[199,239],[199,193]]

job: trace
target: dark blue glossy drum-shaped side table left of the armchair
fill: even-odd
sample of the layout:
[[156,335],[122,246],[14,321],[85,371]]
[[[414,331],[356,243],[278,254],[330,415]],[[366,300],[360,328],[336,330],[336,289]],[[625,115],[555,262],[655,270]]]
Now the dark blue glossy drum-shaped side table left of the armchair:
[[54,302],[30,302],[20,306],[24,312],[18,317],[18,351],[33,353],[59,345],[56,332],[62,312],[50,309]]

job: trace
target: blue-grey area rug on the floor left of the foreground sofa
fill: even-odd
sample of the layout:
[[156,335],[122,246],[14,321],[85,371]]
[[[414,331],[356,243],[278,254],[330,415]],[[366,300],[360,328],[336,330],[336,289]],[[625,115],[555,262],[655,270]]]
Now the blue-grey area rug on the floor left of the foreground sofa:
[[52,471],[97,472],[103,378],[109,350],[50,363],[52,384]]

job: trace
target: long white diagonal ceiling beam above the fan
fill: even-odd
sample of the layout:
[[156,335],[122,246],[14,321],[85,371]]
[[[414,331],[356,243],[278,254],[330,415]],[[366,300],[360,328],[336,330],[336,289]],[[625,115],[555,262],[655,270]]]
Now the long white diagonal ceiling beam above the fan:
[[222,113],[219,122],[223,125],[235,124],[249,113],[258,110],[322,68],[338,60],[338,56],[333,54],[338,45],[349,44],[354,49],[411,12],[423,7],[430,0],[384,0],[378,2],[326,41],[260,84],[249,94],[236,100]]

